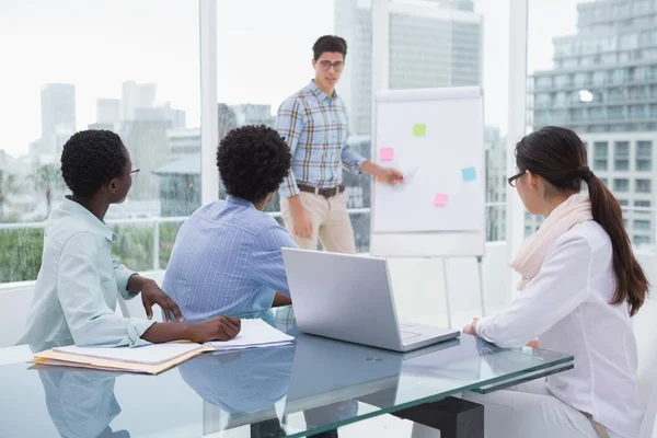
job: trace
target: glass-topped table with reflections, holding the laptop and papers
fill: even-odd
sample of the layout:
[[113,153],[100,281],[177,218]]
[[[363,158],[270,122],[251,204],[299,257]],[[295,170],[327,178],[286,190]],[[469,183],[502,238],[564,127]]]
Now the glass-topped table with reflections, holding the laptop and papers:
[[208,353],[160,376],[26,364],[51,344],[0,349],[0,435],[177,438],[242,428],[240,436],[311,436],[562,372],[574,361],[469,335],[400,354],[299,334],[293,318],[252,316],[293,335],[295,344]]

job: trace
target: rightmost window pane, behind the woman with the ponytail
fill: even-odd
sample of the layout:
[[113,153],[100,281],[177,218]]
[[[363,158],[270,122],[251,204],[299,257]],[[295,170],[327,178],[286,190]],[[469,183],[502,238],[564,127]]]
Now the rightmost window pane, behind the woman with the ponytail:
[[[657,141],[657,31],[650,28],[656,7],[646,0],[528,0],[528,73],[572,78],[550,90],[570,99],[558,106],[529,108],[528,119],[534,125],[528,130],[545,125],[575,130],[590,146],[592,170],[629,201],[623,215],[630,235],[641,242],[644,233],[654,241],[653,227],[634,233],[634,220],[644,227],[641,220],[652,214],[645,208],[654,207],[648,199]],[[566,62],[577,58],[577,64]],[[535,91],[529,93],[532,102]]]

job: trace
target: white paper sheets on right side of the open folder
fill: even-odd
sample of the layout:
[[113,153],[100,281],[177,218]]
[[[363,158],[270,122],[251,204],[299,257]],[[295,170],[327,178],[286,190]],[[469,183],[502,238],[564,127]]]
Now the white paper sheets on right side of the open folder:
[[295,338],[274,328],[263,320],[242,320],[240,333],[226,342],[206,343],[215,350],[226,351],[245,348],[276,347],[291,344]]

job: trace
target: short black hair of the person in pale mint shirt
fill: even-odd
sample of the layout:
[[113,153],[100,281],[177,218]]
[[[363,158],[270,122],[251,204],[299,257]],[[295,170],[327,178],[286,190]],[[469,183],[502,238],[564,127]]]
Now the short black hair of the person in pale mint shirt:
[[116,134],[81,130],[64,145],[61,176],[73,195],[85,198],[112,178],[123,176],[127,161],[126,147]]

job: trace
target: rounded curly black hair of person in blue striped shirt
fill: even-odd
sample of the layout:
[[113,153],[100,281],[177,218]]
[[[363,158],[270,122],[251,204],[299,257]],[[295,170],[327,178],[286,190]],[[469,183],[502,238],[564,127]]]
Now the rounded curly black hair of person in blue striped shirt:
[[276,192],[291,164],[285,139],[264,125],[231,130],[217,149],[217,166],[226,191],[252,203]]

